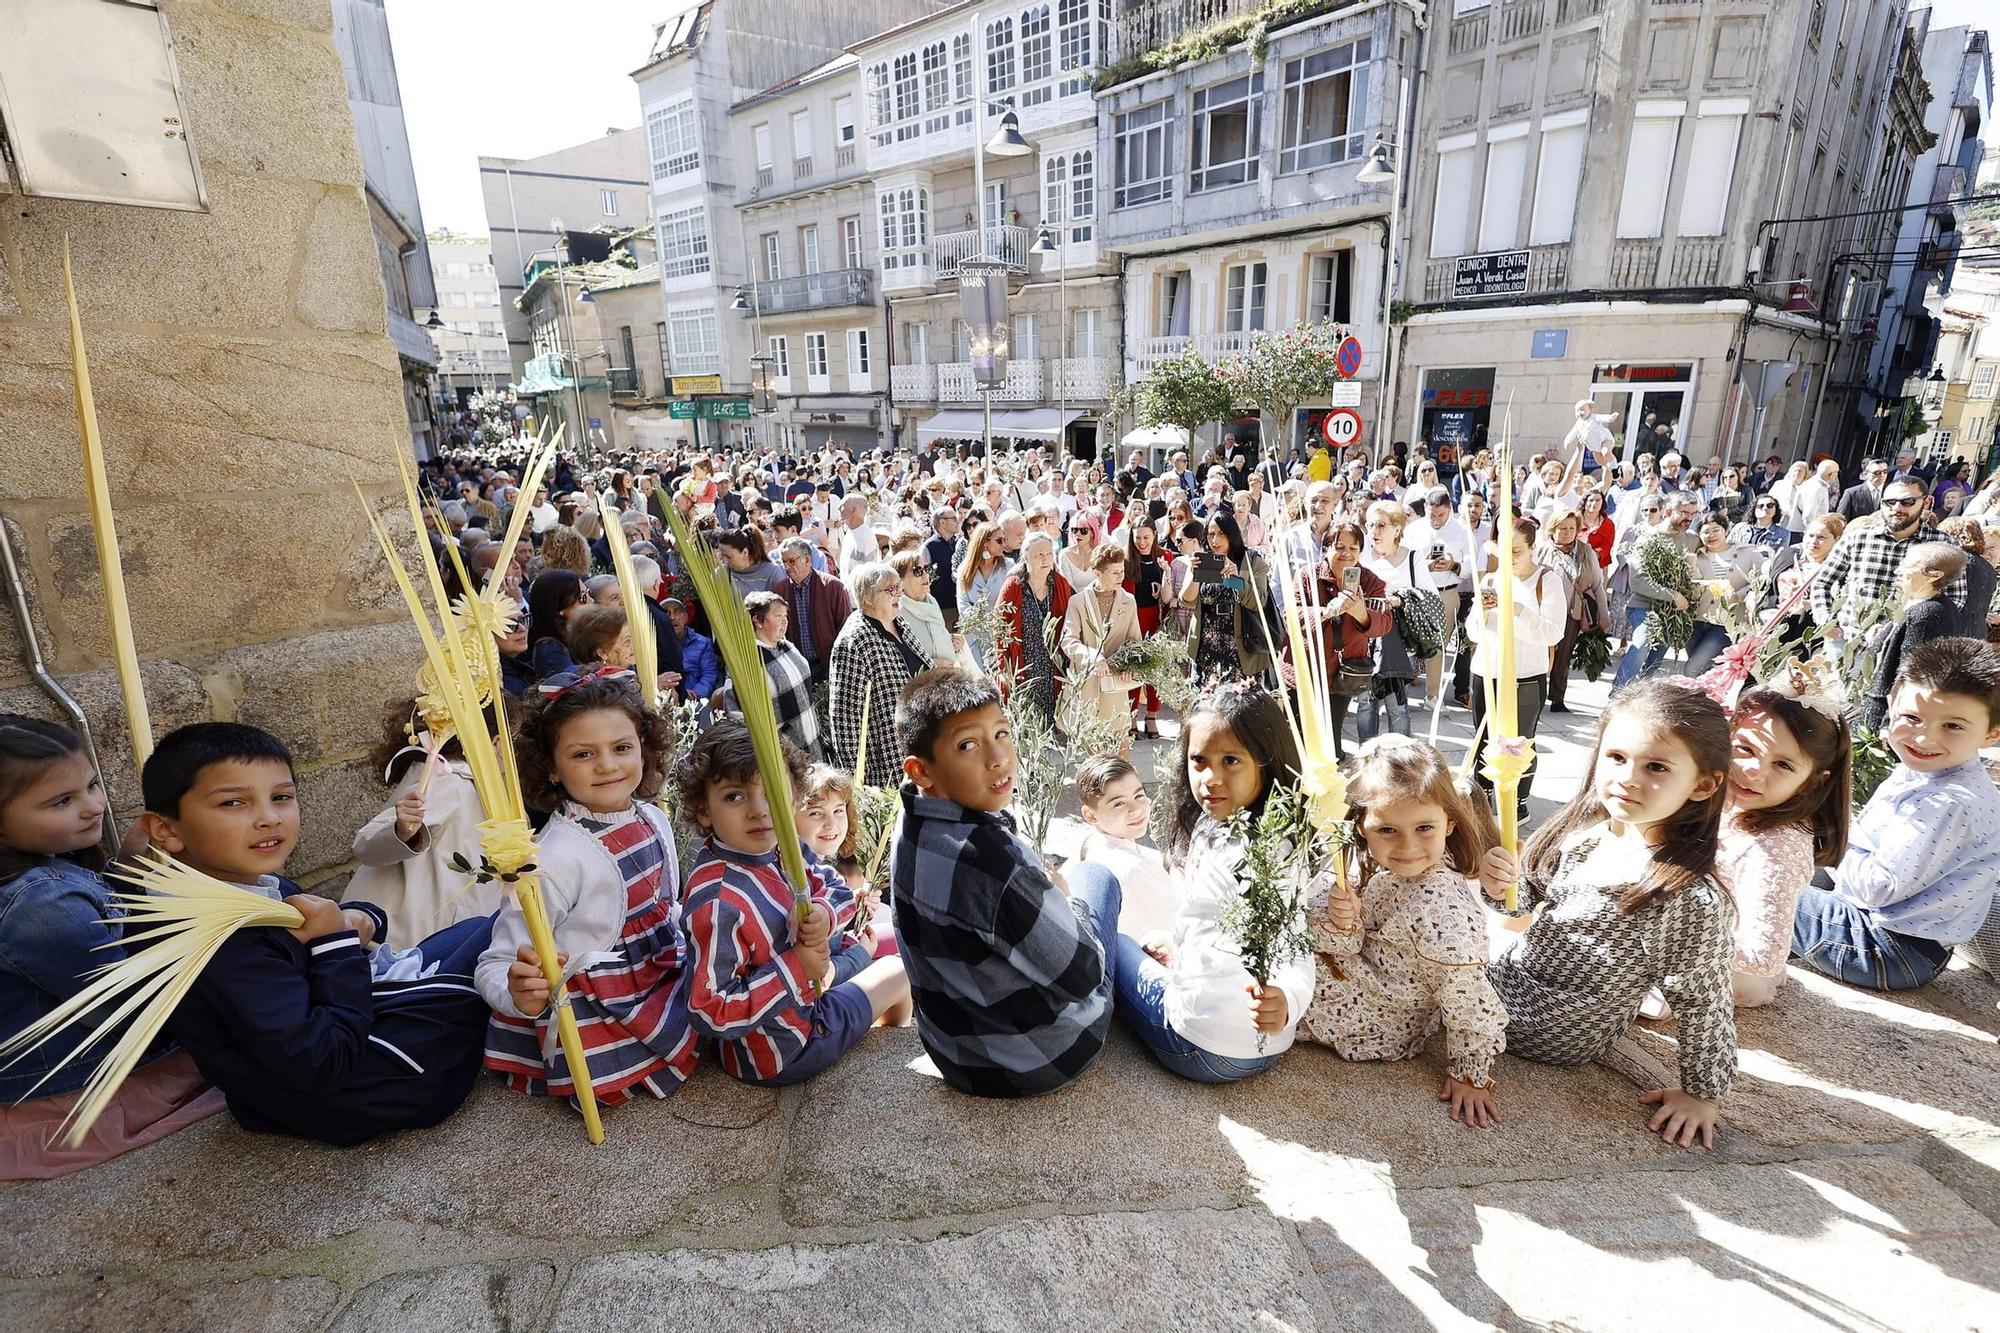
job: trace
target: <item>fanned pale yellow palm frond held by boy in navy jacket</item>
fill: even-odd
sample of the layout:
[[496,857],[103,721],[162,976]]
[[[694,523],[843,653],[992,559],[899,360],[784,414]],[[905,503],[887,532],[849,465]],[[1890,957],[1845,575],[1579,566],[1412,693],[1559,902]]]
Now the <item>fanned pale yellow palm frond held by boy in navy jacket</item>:
[[210,879],[162,851],[142,857],[136,869],[112,871],[112,879],[140,889],[140,893],[112,893],[112,903],[124,911],[126,957],[98,969],[90,985],[0,1045],[0,1055],[18,1061],[54,1041],[58,1033],[94,1021],[76,1049],[42,1077],[46,1083],[78,1055],[118,1033],[118,1041],[90,1071],[82,1095],[62,1123],[64,1143],[70,1147],[78,1147],[98,1123],[230,935],[244,927],[290,929],[306,921],[290,903]]

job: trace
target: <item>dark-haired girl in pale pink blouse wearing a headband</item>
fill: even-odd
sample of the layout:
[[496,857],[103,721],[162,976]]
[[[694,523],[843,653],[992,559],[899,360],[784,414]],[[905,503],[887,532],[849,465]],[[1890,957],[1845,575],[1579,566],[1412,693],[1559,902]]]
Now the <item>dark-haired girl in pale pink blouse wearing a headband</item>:
[[1730,809],[1716,869],[1736,899],[1736,1007],[1778,999],[1792,917],[1814,867],[1836,867],[1854,809],[1844,701],[1792,669],[1736,703]]

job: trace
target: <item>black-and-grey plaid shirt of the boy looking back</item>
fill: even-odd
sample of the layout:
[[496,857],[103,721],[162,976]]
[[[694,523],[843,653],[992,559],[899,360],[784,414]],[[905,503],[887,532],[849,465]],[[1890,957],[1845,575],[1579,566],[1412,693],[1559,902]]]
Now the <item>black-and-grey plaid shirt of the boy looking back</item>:
[[946,1083],[1034,1097],[1090,1067],[1112,1017],[1104,945],[1008,815],[904,783],[890,899],[916,1033]]

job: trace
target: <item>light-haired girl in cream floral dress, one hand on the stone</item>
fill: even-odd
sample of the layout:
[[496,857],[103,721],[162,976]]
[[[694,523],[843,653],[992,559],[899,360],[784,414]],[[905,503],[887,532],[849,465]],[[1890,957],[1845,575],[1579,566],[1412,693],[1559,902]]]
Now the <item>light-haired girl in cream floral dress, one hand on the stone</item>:
[[1466,883],[1484,873],[1504,895],[1512,857],[1484,801],[1468,801],[1436,747],[1380,737],[1348,779],[1362,835],[1360,879],[1330,887],[1310,915],[1316,987],[1300,1035],[1350,1061],[1406,1061],[1444,1029],[1438,1101],[1468,1127],[1500,1123],[1494,1057],[1506,1009],[1486,979],[1486,911]]

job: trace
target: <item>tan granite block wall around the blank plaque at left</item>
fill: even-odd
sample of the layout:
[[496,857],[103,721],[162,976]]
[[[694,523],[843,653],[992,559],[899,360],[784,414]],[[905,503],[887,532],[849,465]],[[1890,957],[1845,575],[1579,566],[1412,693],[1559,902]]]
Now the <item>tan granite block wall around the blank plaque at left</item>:
[[[402,378],[326,0],[164,0],[208,212],[0,192],[0,514],[50,671],[138,805],[84,498],[70,238],[154,733],[294,747],[330,883],[384,799],[362,755],[418,662],[350,482],[400,510]],[[408,518],[400,532],[410,534]],[[56,717],[0,614],[0,709]]]

